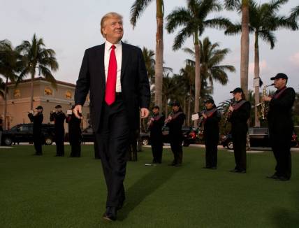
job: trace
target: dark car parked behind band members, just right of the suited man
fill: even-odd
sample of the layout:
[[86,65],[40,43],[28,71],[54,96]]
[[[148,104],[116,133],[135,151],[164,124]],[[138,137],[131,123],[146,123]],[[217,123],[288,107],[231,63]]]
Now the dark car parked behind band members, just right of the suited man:
[[[197,140],[196,129],[194,129],[193,127],[183,126],[182,132],[183,132],[183,136],[184,136],[184,141],[183,141],[184,146],[189,146],[192,143],[196,143],[196,140]],[[168,127],[164,127],[162,134],[163,134],[163,143],[170,143]],[[142,141],[143,145],[150,144],[149,132],[142,132],[142,133],[140,133],[140,136],[141,136],[141,141]]]

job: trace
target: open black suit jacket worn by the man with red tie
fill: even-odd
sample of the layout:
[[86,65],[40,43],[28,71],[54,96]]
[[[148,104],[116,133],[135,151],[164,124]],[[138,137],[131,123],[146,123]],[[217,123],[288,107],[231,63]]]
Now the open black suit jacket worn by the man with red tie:
[[[99,130],[101,111],[105,102],[105,43],[85,50],[75,88],[75,104],[85,103],[90,91],[90,115],[94,131]],[[139,108],[148,108],[149,80],[140,48],[122,43],[122,96],[131,129],[139,129]]]

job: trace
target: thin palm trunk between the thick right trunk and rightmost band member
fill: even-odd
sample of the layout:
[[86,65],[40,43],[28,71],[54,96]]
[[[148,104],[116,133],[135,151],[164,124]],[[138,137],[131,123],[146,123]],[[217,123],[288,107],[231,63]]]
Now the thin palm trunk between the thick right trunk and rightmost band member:
[[[260,76],[260,66],[259,66],[259,52],[258,52],[258,33],[255,34],[255,43],[254,43],[254,78],[259,78]],[[254,126],[260,127],[261,122],[258,119],[258,107],[256,105],[260,103],[260,87],[256,86],[254,88]]]

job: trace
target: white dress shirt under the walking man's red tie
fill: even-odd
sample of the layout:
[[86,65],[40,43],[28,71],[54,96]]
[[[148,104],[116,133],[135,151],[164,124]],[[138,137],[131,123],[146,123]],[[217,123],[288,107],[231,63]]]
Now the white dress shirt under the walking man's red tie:
[[[107,82],[108,77],[108,67],[109,67],[109,58],[110,58],[110,52],[111,52],[111,46],[113,44],[109,41],[105,41],[105,57],[104,57],[104,65],[105,65],[105,78]],[[115,56],[116,56],[116,62],[117,62],[117,73],[116,73],[116,90],[115,92],[122,92],[122,85],[120,82],[120,73],[122,70],[122,42],[119,41],[119,43],[115,43]]]

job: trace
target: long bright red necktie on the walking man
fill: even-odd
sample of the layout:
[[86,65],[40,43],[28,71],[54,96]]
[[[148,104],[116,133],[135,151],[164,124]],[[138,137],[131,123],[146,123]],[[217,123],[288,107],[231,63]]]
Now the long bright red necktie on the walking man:
[[117,74],[117,62],[115,56],[115,45],[111,46],[108,76],[105,90],[105,101],[110,106],[115,101],[115,90],[116,90],[116,74]]

